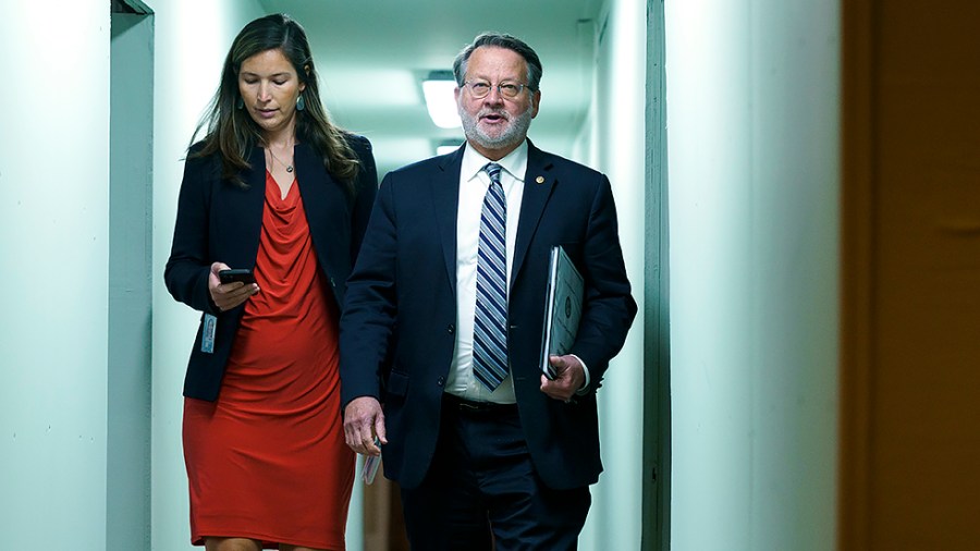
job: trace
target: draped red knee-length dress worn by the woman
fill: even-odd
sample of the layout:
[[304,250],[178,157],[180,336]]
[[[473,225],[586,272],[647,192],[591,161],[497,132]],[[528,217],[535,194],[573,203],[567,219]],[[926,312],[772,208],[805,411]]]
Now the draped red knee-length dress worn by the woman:
[[339,313],[298,185],[266,175],[255,267],[217,402],[184,400],[191,539],[344,549],[355,455],[344,443]]

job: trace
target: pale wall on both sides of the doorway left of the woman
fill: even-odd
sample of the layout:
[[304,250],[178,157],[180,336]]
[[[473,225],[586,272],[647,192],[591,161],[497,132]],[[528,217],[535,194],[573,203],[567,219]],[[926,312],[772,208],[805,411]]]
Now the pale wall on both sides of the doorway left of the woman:
[[[156,23],[154,549],[189,548],[181,382],[196,318],[162,287],[184,149],[255,1],[145,1]],[[0,535],[107,546],[109,3],[0,14]],[[28,23],[28,24],[25,24]],[[20,83],[20,84],[17,84]]]

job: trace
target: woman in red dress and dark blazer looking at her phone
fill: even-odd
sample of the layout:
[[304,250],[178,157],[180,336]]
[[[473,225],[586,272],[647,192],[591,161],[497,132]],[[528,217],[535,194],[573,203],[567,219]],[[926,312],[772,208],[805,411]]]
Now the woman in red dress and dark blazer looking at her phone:
[[[330,122],[306,34],[280,14],[235,38],[204,125],[164,272],[201,311],[184,382],[191,539],[342,550],[355,456],[338,319],[377,188],[370,144]],[[250,279],[223,283],[230,268]]]

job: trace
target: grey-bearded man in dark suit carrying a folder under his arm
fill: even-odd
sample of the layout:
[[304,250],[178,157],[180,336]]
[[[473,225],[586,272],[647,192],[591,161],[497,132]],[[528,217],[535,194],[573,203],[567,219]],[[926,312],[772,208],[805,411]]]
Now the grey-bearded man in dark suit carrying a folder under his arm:
[[[347,281],[345,437],[383,449],[413,549],[574,549],[602,470],[596,391],[636,315],[612,192],[527,139],[542,72],[529,46],[483,34],[453,70],[466,144],[385,176]],[[549,380],[555,245],[585,296]]]

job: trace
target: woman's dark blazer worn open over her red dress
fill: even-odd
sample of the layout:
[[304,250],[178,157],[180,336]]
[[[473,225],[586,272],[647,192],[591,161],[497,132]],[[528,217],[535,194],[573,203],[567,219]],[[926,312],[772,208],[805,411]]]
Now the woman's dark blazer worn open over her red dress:
[[[344,304],[344,281],[360,247],[378,186],[370,143],[360,136],[348,136],[347,142],[360,160],[354,194],[330,176],[310,146],[297,145],[293,160],[317,260],[338,305]],[[163,280],[174,298],[201,311],[201,327],[184,379],[184,395],[188,397],[218,399],[244,311],[244,304],[218,310],[208,292],[208,274],[215,261],[232,268],[255,268],[266,193],[261,147],[252,149],[248,162],[252,168],[242,174],[247,188],[221,177],[217,155],[188,158],[184,164],[173,246]],[[210,353],[200,346],[205,314],[218,317]]]

